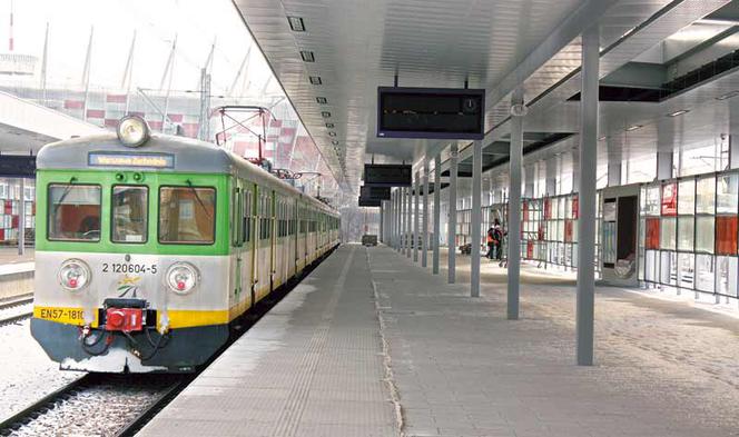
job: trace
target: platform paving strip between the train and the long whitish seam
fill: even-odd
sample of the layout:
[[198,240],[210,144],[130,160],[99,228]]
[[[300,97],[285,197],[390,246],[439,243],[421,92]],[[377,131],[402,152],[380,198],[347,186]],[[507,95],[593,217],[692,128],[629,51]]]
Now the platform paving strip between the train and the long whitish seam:
[[339,248],[140,435],[397,435],[371,278]]

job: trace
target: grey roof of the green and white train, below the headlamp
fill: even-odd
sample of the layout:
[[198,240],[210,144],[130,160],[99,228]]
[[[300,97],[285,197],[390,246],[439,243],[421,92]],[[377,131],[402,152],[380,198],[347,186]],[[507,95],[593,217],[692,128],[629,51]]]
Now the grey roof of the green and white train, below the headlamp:
[[[126,165],[106,165],[95,167],[93,157],[166,157],[166,166],[139,167]],[[116,133],[71,138],[46,145],[36,159],[39,170],[89,170],[90,168],[109,170],[139,170],[160,172],[224,173],[238,176],[267,186],[282,193],[289,193],[329,212],[336,211],[322,201],[304,195],[300,190],[278,179],[268,171],[246,159],[217,147],[211,142],[186,137],[152,133],[141,147],[124,146]]]

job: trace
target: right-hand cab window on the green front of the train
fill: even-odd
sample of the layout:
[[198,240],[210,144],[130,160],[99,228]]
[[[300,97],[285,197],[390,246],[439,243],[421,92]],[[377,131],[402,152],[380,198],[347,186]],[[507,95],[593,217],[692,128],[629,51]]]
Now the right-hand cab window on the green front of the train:
[[159,189],[159,242],[210,245],[216,234],[216,190],[199,187]]

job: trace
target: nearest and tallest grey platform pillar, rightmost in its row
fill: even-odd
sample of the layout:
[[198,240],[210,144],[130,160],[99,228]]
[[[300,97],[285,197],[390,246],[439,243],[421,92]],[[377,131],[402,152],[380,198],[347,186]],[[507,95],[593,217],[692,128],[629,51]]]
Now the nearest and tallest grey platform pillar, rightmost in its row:
[[578,216],[578,365],[593,364],[593,312],[595,309],[595,180],[598,158],[598,82],[600,30],[582,33],[582,100],[580,102],[580,213]]

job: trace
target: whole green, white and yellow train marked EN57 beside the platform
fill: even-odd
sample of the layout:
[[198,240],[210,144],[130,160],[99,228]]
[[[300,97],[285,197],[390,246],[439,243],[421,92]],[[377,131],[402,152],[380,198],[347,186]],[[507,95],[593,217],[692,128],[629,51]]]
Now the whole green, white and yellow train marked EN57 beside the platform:
[[195,371],[339,245],[325,202],[137,116],[45,146],[36,183],[31,335],[65,370]]

